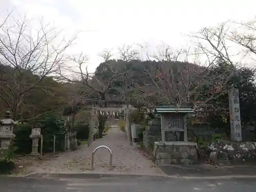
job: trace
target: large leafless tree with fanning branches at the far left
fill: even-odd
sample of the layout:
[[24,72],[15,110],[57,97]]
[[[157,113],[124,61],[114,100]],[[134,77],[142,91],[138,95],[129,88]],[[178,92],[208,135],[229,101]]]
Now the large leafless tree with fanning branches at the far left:
[[75,37],[59,41],[61,31],[50,25],[11,15],[1,25],[0,34],[0,98],[16,119],[30,93],[44,91],[42,82],[60,67]]

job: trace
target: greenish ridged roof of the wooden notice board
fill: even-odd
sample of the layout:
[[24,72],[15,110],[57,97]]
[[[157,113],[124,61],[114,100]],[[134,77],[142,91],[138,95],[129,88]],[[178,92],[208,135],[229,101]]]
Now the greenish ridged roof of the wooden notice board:
[[165,105],[156,106],[155,109],[158,113],[195,113],[191,106]]

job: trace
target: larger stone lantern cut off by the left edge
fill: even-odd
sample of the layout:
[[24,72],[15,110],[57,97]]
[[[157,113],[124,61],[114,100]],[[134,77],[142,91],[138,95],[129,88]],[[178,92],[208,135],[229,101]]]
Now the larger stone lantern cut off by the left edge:
[[0,159],[5,159],[13,134],[14,121],[11,119],[11,112],[5,112],[5,119],[0,121]]

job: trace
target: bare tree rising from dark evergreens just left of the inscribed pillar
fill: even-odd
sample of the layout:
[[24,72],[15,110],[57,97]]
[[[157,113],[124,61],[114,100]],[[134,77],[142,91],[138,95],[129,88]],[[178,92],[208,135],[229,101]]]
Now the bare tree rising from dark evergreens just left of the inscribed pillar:
[[[240,61],[234,61],[234,56],[238,53],[232,50],[234,44],[230,41],[228,24],[229,22],[225,22],[215,28],[203,28],[198,33],[190,35],[197,43],[201,60],[205,60],[204,70],[196,86],[209,87],[209,90],[199,92],[198,89],[194,89],[191,93],[194,97],[206,98],[197,105],[198,108],[206,108],[211,100],[227,93],[226,85],[236,75],[235,69],[241,64]],[[211,69],[220,63],[226,63],[225,70],[218,74],[211,73]]]

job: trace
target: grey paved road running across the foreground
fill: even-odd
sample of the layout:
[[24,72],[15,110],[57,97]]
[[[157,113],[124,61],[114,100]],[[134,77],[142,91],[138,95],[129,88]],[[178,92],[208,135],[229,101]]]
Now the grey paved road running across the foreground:
[[21,178],[0,177],[1,192],[171,192],[217,191],[253,192],[255,179],[179,179],[153,176],[103,178]]

